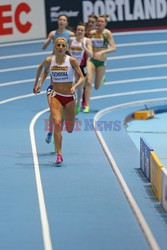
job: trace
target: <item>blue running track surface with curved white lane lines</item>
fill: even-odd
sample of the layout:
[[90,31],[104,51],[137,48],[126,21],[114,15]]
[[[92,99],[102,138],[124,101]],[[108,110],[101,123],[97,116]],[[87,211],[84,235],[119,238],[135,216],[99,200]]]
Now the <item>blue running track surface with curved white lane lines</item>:
[[52,45],[0,44],[0,249],[167,249],[167,213],[139,169],[139,137],[124,126],[135,110],[166,105],[167,31],[114,39],[91,112],[79,113],[72,134],[63,131],[61,167],[45,142],[49,79],[32,93]]

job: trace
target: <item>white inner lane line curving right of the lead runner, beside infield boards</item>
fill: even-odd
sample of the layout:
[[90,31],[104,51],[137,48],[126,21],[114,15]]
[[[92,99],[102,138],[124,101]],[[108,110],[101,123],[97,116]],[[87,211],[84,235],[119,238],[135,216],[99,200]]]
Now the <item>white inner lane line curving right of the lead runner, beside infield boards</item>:
[[[125,108],[125,107],[129,107],[129,106],[136,106],[136,105],[141,105],[141,104],[145,104],[145,103],[150,103],[150,102],[157,102],[157,101],[160,101],[161,98],[158,98],[158,99],[150,99],[150,100],[141,100],[141,101],[134,101],[134,102],[129,102],[129,103],[123,103],[123,104],[119,104],[119,105],[115,105],[115,106],[112,106],[112,107],[108,107],[108,108],[105,108],[103,110],[101,110],[100,112],[98,112],[95,116],[94,116],[94,128],[96,128],[96,123],[97,121],[105,114],[111,112],[112,110],[115,110],[115,109],[120,109],[120,108]],[[163,100],[167,100],[167,98],[164,98]],[[136,219],[139,223],[139,226],[140,228],[142,229],[146,239],[147,239],[147,242],[148,244],[150,245],[150,248],[152,250],[160,250],[160,247],[159,245],[157,244],[153,234],[152,234],[152,231],[150,230],[140,208],[138,207],[132,193],[130,192],[129,188],[128,188],[128,185],[127,183],[125,182],[120,170],[119,170],[119,167],[118,165],[116,164],[115,160],[114,160],[114,157],[113,155],[111,154],[102,134],[100,131],[96,130],[95,129],[95,133],[96,133],[96,136],[103,148],[103,151],[105,152],[105,155],[107,156],[107,159],[109,161],[109,164],[123,190],[123,193],[127,199],[127,201],[129,202],[131,208],[132,208],[132,211],[134,213],[134,215],[136,216]]]

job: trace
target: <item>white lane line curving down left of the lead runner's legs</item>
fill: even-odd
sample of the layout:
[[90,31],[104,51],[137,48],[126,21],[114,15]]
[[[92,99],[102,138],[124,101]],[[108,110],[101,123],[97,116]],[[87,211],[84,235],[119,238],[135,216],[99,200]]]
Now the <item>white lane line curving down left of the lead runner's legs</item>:
[[50,237],[50,229],[48,223],[48,217],[46,212],[40,170],[39,170],[39,162],[38,162],[38,155],[37,155],[37,148],[35,142],[35,135],[34,135],[34,125],[37,119],[49,109],[42,110],[41,112],[37,113],[30,123],[30,139],[31,139],[31,147],[32,147],[32,156],[34,160],[34,170],[35,170],[35,179],[36,179],[36,186],[37,186],[37,194],[38,194],[38,202],[39,202],[39,210],[40,210],[40,217],[41,217],[41,226],[42,226],[42,235],[43,235],[43,243],[45,250],[52,250],[52,242]]

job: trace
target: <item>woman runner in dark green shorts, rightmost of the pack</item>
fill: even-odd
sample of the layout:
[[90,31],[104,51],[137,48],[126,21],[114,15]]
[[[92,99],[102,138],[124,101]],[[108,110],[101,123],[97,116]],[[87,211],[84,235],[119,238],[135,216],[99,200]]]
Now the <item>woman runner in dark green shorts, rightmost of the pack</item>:
[[116,50],[115,42],[112,33],[106,29],[106,16],[97,18],[97,28],[90,32],[90,38],[93,47],[93,57],[87,62],[87,82],[85,88],[86,107],[84,112],[90,111],[89,102],[91,97],[91,87],[94,79],[95,89],[98,89],[103,81],[107,60],[107,53]]

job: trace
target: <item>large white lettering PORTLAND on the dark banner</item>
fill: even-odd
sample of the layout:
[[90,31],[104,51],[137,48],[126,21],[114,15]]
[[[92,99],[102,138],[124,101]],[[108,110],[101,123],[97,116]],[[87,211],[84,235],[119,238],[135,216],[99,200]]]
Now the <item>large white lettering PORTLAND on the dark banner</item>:
[[89,15],[108,15],[108,21],[136,21],[163,19],[167,17],[166,0],[105,0],[82,1],[83,21],[87,22]]

